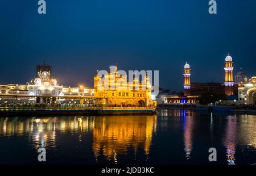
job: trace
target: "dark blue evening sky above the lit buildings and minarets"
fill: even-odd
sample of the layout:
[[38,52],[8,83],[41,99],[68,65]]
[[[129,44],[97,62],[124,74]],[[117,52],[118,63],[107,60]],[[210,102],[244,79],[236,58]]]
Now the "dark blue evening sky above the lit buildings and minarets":
[[46,0],[0,1],[0,83],[26,83],[35,65],[53,66],[65,86],[93,86],[96,70],[116,62],[124,70],[159,70],[160,86],[183,90],[191,82],[224,81],[227,52],[235,72],[255,76],[256,1]]

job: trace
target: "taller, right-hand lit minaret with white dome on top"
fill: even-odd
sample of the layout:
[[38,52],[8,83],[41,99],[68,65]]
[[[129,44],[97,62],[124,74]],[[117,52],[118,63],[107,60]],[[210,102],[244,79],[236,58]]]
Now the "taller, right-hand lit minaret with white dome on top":
[[225,94],[234,95],[234,82],[233,82],[233,61],[232,57],[229,55],[225,58]]

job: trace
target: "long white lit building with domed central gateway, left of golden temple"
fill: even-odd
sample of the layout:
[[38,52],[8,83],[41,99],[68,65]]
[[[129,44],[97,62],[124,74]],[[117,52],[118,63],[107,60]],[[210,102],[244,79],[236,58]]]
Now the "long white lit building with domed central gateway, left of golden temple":
[[[36,68],[42,69],[38,66]],[[0,85],[0,103],[80,103],[84,98],[94,98],[94,89],[60,86],[57,79],[51,76],[51,72],[41,70],[26,85]]]

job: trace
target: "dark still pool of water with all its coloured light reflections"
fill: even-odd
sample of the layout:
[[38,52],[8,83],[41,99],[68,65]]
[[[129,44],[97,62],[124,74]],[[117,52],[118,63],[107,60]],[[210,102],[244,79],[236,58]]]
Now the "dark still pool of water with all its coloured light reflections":
[[159,110],[158,115],[0,118],[0,164],[256,163],[256,116]]

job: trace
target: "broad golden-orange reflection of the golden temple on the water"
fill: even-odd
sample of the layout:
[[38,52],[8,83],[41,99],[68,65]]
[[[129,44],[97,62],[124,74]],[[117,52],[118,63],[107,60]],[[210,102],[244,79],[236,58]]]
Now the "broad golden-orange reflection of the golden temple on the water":
[[156,116],[108,116],[95,118],[93,130],[93,152],[96,161],[104,156],[117,163],[119,154],[129,149],[142,148],[146,157],[150,153],[152,135],[156,128]]

